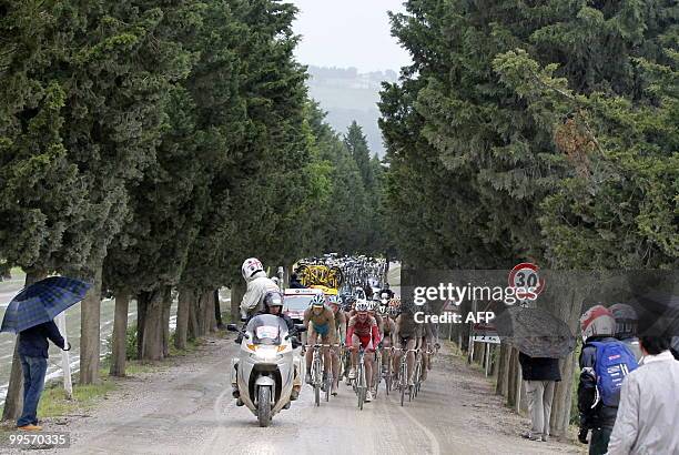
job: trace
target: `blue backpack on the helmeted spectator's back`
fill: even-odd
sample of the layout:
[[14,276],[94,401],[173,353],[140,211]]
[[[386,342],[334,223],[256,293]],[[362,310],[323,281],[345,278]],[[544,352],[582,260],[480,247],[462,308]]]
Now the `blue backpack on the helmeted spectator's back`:
[[596,348],[597,392],[606,406],[618,407],[625,376],[637,370],[635,354],[622,342],[590,342]]

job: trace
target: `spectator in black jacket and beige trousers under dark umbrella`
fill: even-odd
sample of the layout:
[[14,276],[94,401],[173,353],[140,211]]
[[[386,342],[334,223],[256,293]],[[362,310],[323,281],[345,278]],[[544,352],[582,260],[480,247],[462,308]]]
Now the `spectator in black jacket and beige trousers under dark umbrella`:
[[524,433],[530,441],[549,441],[549,418],[551,416],[551,402],[554,388],[561,381],[558,358],[530,357],[519,354],[521,374],[526,381],[528,394],[528,411],[533,427]]

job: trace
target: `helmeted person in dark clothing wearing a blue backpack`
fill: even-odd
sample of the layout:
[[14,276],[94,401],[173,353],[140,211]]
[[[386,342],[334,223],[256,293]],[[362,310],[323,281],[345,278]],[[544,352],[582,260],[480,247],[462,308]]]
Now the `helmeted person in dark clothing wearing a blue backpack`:
[[591,431],[589,455],[604,455],[616,423],[622,382],[638,365],[629,347],[614,337],[616,320],[610,310],[592,306],[580,317],[580,328],[585,344],[579,361],[578,439],[587,444]]

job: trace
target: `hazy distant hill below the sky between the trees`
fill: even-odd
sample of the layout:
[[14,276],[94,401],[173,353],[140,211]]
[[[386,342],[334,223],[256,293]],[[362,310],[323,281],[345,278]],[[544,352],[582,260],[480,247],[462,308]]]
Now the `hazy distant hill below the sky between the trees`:
[[382,82],[395,82],[398,74],[386,70],[359,73],[355,68],[308,67],[307,81],[311,97],[327,111],[328,123],[345,133],[356,120],[367,136],[372,153],[384,155],[382,133],[377,127],[379,90]]

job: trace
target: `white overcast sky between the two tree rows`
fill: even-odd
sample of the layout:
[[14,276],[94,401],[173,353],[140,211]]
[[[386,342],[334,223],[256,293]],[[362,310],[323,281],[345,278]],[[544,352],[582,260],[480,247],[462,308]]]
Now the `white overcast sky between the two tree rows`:
[[361,72],[394,70],[409,55],[391,36],[387,11],[403,0],[290,0],[301,10],[294,30],[302,34],[296,55],[304,64],[355,67]]

